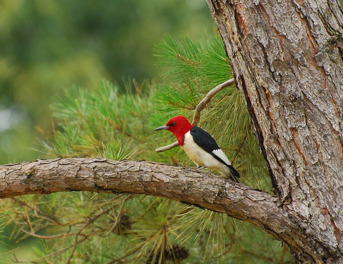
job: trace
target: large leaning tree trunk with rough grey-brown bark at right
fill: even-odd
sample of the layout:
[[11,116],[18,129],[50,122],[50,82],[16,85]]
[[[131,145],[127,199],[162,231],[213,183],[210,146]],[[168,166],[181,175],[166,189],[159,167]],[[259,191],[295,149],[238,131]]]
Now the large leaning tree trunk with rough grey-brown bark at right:
[[207,0],[297,263],[343,263],[343,16],[338,1]]

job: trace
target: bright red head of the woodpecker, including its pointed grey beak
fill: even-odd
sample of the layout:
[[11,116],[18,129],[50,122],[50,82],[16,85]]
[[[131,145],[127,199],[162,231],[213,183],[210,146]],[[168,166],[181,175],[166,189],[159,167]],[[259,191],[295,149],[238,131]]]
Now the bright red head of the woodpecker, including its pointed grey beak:
[[156,128],[155,131],[169,130],[170,132],[173,132],[179,144],[183,146],[185,134],[191,130],[192,127],[193,125],[188,122],[187,118],[183,116],[176,116],[170,119],[166,125]]

